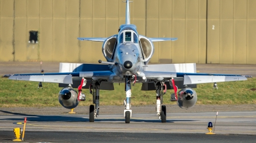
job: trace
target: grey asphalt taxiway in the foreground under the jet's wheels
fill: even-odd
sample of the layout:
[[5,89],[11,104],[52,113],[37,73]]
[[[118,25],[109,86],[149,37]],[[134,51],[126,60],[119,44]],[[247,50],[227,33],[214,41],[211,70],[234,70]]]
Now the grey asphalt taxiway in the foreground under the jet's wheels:
[[[2,111],[3,112],[3,111]],[[256,111],[167,113],[166,123],[156,114],[102,114],[90,123],[88,114],[0,116],[0,142],[14,139],[13,128],[23,128],[26,142],[255,142]],[[205,135],[211,121],[216,135]]]

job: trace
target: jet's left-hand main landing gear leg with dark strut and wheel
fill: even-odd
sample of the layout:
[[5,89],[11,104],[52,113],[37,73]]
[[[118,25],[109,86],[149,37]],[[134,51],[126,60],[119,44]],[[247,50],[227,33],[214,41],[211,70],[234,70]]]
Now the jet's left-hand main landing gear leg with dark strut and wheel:
[[100,82],[99,81],[93,81],[93,84],[90,85],[90,93],[93,97],[93,103],[94,105],[90,105],[90,122],[94,122],[94,119],[97,119],[97,116],[99,116],[99,105],[100,105]]

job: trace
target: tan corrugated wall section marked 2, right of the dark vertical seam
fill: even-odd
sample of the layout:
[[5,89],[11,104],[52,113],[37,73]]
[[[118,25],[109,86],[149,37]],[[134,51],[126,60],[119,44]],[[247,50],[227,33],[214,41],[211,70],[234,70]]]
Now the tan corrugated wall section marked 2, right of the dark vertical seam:
[[207,63],[255,64],[256,1],[208,0]]

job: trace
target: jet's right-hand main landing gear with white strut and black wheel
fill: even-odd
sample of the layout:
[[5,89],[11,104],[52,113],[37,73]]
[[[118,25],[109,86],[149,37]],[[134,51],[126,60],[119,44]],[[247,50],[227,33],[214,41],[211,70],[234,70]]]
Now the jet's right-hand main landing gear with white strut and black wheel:
[[156,82],[156,112],[162,123],[166,123],[166,107],[163,104],[163,94],[166,93],[166,84]]

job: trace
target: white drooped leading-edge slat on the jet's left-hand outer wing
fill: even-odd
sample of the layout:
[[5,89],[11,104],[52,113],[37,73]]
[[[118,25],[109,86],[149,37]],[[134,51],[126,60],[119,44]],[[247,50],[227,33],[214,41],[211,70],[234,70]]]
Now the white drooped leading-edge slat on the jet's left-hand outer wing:
[[9,79],[72,84],[72,75],[12,75]]

